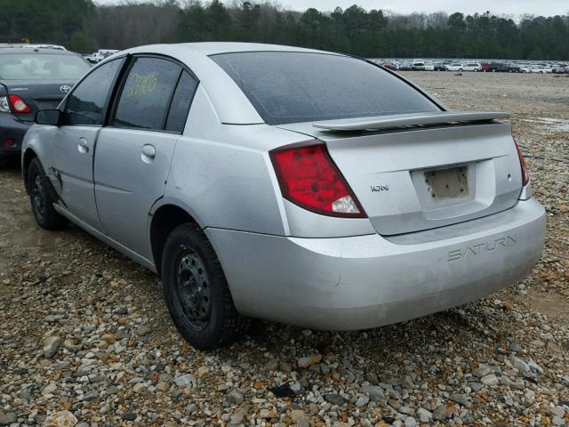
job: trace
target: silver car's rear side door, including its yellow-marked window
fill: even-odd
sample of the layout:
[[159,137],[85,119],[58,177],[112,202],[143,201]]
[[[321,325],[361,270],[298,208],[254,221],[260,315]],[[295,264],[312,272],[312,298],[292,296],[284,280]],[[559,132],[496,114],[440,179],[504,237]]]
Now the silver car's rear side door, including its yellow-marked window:
[[164,195],[196,87],[196,78],[177,62],[133,57],[114,114],[97,141],[95,198],[103,230],[148,259],[148,214]]

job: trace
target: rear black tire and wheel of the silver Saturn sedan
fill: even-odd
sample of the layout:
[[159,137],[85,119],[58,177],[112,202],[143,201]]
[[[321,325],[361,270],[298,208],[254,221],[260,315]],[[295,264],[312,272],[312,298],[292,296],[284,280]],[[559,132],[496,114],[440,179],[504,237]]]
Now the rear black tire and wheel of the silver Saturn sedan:
[[172,230],[162,260],[164,299],[181,336],[197,350],[235,342],[249,322],[237,313],[220,261],[196,223]]

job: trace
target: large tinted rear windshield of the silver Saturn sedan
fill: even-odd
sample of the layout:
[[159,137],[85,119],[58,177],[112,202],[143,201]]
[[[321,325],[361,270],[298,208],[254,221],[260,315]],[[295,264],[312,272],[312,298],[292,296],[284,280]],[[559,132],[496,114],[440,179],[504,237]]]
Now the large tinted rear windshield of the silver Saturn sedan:
[[438,111],[411,85],[365,60],[325,53],[212,55],[268,125]]

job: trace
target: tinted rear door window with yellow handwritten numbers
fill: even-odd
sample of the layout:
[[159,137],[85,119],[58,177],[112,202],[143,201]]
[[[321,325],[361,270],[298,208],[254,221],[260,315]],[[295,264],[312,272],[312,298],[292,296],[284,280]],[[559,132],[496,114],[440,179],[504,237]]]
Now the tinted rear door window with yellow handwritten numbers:
[[113,125],[162,130],[181,68],[170,60],[137,58],[124,82]]

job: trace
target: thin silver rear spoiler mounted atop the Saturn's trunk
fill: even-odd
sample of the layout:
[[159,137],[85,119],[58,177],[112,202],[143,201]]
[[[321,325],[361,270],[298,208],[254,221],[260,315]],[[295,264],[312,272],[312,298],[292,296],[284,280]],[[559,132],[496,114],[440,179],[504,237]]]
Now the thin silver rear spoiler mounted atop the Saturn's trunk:
[[327,131],[376,131],[403,126],[444,125],[469,122],[489,122],[499,118],[508,118],[511,113],[503,112],[465,112],[441,111],[437,113],[397,114],[381,117],[358,117],[341,120],[329,120],[312,124]]

